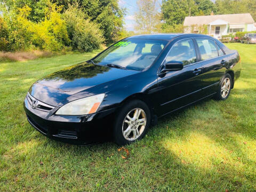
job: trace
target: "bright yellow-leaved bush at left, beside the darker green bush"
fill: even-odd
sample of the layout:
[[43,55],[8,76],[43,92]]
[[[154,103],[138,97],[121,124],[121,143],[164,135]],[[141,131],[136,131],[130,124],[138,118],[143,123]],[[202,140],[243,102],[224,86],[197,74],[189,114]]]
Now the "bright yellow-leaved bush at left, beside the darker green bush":
[[30,7],[19,9],[18,15],[10,22],[9,34],[11,51],[27,51],[38,47],[41,50],[60,51],[70,44],[65,20],[61,18],[61,7],[50,4],[42,22],[29,20]]

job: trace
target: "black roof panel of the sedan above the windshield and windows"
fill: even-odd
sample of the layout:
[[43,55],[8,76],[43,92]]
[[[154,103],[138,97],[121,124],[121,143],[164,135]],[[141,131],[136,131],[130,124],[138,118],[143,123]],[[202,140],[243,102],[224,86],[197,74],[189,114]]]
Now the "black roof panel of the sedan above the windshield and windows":
[[213,38],[211,36],[202,35],[202,34],[147,34],[147,35],[135,35],[135,36],[127,37],[126,39],[137,38],[137,39],[159,39],[159,40],[170,41],[171,39],[173,39],[175,37],[181,37],[181,36],[183,36],[184,38],[187,38],[187,37]]

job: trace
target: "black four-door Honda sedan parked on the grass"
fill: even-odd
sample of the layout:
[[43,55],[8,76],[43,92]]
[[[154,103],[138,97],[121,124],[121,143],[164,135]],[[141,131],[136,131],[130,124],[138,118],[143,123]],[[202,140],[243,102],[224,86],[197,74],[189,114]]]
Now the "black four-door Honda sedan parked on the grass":
[[226,100],[240,71],[238,52],[210,36],[133,36],[39,79],[24,109],[49,138],[125,145],[143,138],[159,117],[207,97]]

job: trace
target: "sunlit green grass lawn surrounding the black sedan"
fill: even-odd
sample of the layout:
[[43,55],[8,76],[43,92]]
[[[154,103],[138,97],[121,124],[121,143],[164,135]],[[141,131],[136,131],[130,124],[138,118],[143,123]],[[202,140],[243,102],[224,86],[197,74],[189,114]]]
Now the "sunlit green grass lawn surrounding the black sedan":
[[227,46],[243,64],[229,98],[159,119],[126,159],[114,143],[47,139],[23,111],[38,78],[97,52],[0,63],[0,191],[256,191],[256,45]]

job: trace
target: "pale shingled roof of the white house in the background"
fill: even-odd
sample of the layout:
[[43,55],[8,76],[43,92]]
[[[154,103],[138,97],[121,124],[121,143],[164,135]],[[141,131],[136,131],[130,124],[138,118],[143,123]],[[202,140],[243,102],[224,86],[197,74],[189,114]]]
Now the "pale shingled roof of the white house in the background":
[[238,23],[254,23],[254,20],[250,13],[241,13],[241,14],[223,14],[223,15],[186,17],[183,25],[184,26],[208,25],[209,23],[216,20],[227,21],[229,25],[238,24]]

